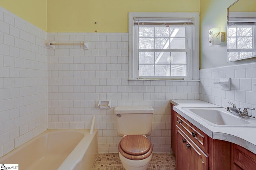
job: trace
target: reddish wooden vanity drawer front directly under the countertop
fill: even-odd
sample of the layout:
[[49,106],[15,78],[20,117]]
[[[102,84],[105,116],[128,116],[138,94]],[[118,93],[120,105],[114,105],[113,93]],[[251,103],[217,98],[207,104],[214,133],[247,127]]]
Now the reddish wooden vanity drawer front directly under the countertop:
[[[176,113],[176,112],[175,112]],[[208,141],[207,135],[203,133],[200,129],[192,125],[182,116],[176,113],[176,125],[188,135],[196,145],[198,145],[204,152],[208,153]]]

